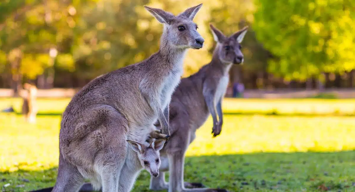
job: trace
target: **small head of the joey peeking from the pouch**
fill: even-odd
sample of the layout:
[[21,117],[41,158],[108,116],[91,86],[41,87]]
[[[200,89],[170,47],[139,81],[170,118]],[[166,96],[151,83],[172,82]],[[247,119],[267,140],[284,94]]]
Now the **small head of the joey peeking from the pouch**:
[[164,147],[166,139],[161,138],[153,141],[148,147],[141,143],[127,140],[133,151],[137,152],[138,159],[141,165],[152,176],[157,177],[159,175],[160,167],[160,153],[159,151]]

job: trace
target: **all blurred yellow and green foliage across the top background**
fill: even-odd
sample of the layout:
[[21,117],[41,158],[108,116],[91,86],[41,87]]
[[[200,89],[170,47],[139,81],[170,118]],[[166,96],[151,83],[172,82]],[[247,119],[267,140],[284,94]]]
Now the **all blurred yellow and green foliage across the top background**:
[[[143,5],[178,14],[196,4],[189,0],[1,1],[0,73],[36,79],[54,64],[60,74],[95,78],[158,51],[163,26]],[[209,23],[226,35],[250,26],[242,43],[246,74],[268,68],[288,79],[305,79],[354,69],[354,6],[354,0],[204,1],[194,21],[205,46],[189,50],[184,77],[211,60],[215,42]],[[51,48],[58,50],[54,63]],[[273,59],[267,62],[269,58]]]

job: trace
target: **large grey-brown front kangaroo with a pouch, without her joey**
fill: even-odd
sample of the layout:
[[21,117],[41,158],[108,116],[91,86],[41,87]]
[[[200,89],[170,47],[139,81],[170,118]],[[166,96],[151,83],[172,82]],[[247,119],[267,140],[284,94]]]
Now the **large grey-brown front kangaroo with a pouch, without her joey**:
[[201,6],[178,16],[144,6],[164,24],[160,49],[142,62],[95,78],[72,98],[62,115],[53,192],[77,192],[84,179],[94,189],[118,192],[126,140],[147,142],[143,136],[157,119],[162,134],[170,135],[169,103],[180,82],[182,60],[187,49],[200,49],[204,42],[192,21]]

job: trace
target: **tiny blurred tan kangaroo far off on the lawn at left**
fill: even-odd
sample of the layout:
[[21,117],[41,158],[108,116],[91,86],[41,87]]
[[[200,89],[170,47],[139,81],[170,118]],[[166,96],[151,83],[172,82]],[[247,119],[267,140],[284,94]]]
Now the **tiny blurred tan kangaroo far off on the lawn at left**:
[[37,87],[29,83],[23,84],[23,88],[27,91],[27,96],[23,97],[22,114],[28,123],[35,123],[37,115]]

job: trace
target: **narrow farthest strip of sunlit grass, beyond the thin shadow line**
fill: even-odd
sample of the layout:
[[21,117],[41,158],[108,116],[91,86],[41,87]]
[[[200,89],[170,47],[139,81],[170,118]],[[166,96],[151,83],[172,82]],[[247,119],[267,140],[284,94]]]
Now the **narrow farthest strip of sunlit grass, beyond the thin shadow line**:
[[[39,113],[60,114],[70,102],[70,98],[39,98]],[[21,98],[1,98],[0,110],[13,105],[21,111]],[[257,114],[330,114],[355,115],[355,99],[252,99],[225,98],[222,104],[225,113]]]

